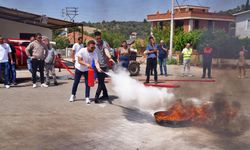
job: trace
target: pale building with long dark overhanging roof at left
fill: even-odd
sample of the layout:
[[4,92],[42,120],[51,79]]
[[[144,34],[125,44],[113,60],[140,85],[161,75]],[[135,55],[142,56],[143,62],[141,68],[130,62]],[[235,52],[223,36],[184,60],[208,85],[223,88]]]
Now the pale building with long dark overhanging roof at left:
[[41,33],[52,39],[52,30],[82,26],[80,23],[59,20],[0,6],[0,35],[5,38],[29,39]]

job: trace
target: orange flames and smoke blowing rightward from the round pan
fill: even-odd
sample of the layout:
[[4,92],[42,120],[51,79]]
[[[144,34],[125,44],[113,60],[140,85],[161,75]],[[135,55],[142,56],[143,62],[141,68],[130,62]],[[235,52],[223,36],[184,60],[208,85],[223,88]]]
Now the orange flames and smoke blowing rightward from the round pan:
[[204,123],[211,120],[230,120],[234,118],[238,111],[239,105],[231,105],[224,100],[215,102],[205,102],[197,106],[192,102],[183,103],[177,100],[167,111],[155,113],[155,119],[158,123],[161,121],[192,121]]

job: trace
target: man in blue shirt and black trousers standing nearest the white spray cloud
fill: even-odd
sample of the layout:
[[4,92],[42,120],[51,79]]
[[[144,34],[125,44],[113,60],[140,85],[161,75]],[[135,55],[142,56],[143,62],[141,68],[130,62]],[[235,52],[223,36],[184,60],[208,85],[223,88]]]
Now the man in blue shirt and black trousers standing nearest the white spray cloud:
[[150,71],[154,70],[154,80],[157,84],[157,44],[153,37],[149,37],[149,44],[147,45],[144,54],[147,55],[147,66],[146,66],[146,75],[147,79],[145,83],[149,83]]

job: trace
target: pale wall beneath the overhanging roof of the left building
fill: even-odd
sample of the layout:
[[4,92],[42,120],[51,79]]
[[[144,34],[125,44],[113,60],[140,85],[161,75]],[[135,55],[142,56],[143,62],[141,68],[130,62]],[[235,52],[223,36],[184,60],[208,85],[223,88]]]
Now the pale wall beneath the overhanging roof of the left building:
[[41,33],[52,38],[52,30],[0,18],[0,35],[4,38],[20,38],[20,33]]

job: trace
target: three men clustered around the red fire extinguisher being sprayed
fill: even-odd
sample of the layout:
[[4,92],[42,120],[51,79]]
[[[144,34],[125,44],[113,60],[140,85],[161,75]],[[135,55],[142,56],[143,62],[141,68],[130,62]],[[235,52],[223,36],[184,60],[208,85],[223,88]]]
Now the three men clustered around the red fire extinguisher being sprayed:
[[[95,41],[90,40],[87,47],[83,46],[82,37],[78,38],[78,43],[73,45],[72,60],[75,62],[75,78],[72,86],[70,102],[75,101],[78,84],[81,77],[85,79],[85,100],[86,104],[90,104],[90,86],[88,85],[88,71],[94,69],[97,73],[98,87],[95,93],[94,102],[100,103],[101,100],[109,100],[108,91],[105,85],[106,72],[108,71],[109,62],[113,62],[109,45],[106,41],[102,40],[101,32],[96,31]],[[100,97],[102,93],[102,96]],[[110,101],[109,101],[110,102]]]

